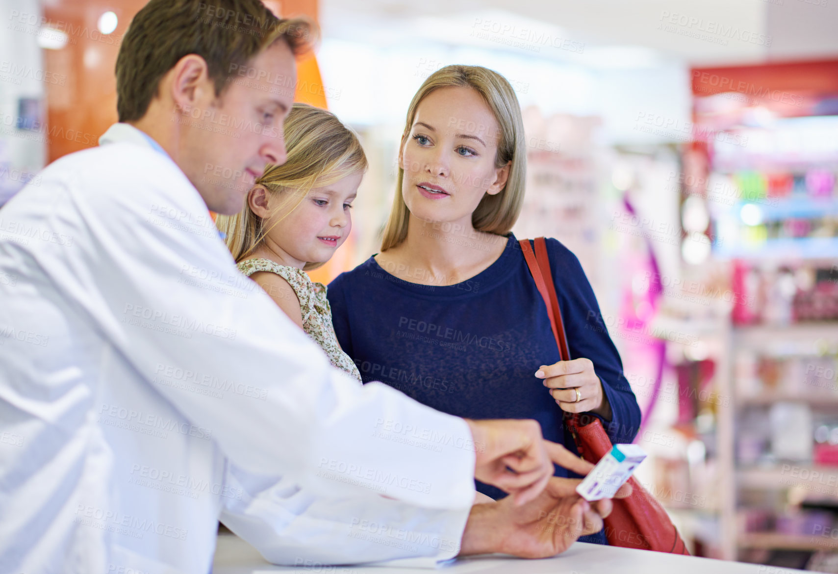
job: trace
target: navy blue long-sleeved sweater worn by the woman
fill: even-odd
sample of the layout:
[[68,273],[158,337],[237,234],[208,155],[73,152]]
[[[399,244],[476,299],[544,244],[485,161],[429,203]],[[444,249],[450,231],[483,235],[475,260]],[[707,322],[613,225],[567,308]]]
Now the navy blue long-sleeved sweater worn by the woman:
[[[547,240],[553,280],[573,359],[591,359],[613,411],[612,442],[632,442],[640,410],[608,336],[585,272]],[[534,374],[559,360],[550,318],[515,236],[503,254],[467,281],[403,281],[373,257],[328,286],[338,341],[364,382],[380,380],[438,411],[472,419],[532,418],[548,440],[577,452],[562,411]],[[556,476],[576,476],[556,466]],[[499,489],[477,484],[494,499]],[[605,543],[603,533],[584,540]]]

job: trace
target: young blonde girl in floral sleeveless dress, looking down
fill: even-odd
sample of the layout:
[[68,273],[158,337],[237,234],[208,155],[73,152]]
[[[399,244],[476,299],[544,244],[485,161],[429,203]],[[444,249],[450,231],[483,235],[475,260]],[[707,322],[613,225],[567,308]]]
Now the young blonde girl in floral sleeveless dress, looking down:
[[287,161],[269,165],[240,214],[216,225],[239,269],[314,339],[332,361],[360,381],[338,344],[326,287],[304,270],[329,260],[352,229],[349,215],[367,168],[358,137],[334,114],[294,104],[284,124]]

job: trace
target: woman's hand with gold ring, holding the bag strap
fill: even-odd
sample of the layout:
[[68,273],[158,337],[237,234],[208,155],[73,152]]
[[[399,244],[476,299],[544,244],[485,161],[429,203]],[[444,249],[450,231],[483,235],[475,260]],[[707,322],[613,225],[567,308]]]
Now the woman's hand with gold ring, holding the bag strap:
[[541,365],[535,376],[544,379],[550,395],[566,412],[593,412],[611,420],[611,406],[603,391],[603,383],[593,372],[591,359],[559,361]]

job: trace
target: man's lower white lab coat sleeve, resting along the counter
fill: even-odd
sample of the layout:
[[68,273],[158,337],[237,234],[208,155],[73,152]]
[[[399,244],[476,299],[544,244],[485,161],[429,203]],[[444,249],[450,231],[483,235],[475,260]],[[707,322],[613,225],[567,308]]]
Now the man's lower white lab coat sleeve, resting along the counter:
[[435,567],[459,553],[470,508],[417,508],[377,497],[323,499],[282,478],[246,473],[225,477],[220,520],[266,561],[317,568],[387,561]]

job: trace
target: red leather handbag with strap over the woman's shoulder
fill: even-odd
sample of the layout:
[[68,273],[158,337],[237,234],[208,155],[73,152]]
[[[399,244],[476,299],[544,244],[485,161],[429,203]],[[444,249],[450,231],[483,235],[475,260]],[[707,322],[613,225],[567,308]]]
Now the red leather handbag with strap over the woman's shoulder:
[[[520,240],[521,251],[524,252],[527,266],[530,267],[535,287],[544,298],[547,314],[556,344],[559,347],[561,360],[570,360],[571,354],[567,348],[565,327],[561,322],[561,308],[553,284],[553,274],[550,270],[550,259],[547,257],[547,244],[544,237],[535,238],[535,253],[530,246],[530,240]],[[606,452],[611,450],[611,439],[603,428],[603,423],[596,416],[565,413],[565,425],[576,441],[580,456],[589,463],[596,464]],[[611,546],[623,548],[639,548],[657,552],[689,555],[678,534],[678,529],[672,524],[666,510],[652,494],[641,486],[634,478],[629,478],[634,492],[625,499],[613,499],[613,511],[605,522],[605,535]]]

